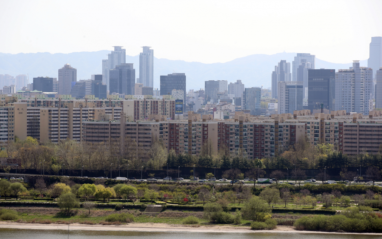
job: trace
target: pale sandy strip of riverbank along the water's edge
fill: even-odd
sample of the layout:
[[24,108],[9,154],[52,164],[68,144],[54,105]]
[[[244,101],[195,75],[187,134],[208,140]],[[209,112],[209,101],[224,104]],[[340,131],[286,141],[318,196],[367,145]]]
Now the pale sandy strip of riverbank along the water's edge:
[[[67,230],[68,225],[65,224],[31,224],[31,223],[15,223],[0,221],[0,228],[17,228],[17,229],[62,229]],[[118,226],[102,226],[102,225],[84,225],[79,223],[70,224],[70,230],[97,230],[97,231],[184,231],[184,232],[288,232],[288,233],[338,233],[338,232],[318,232],[318,231],[297,231],[292,226],[277,226],[274,230],[253,231],[250,227],[216,225],[216,226],[199,226],[193,225],[177,225],[166,223],[129,223]],[[340,234],[361,234],[361,235],[381,235],[380,233],[340,233]]]

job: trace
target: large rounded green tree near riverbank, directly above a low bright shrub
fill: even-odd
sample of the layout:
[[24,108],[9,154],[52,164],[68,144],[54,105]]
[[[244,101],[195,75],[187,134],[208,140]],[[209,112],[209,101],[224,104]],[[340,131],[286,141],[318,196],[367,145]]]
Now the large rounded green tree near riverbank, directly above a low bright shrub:
[[241,209],[244,218],[250,219],[252,221],[263,221],[265,215],[270,213],[270,211],[271,209],[267,207],[264,201],[257,196],[249,199]]

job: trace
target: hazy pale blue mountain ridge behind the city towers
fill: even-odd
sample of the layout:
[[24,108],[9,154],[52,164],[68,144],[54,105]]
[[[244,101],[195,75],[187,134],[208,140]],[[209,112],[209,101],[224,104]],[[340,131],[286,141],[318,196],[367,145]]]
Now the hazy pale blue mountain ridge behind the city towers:
[[[69,54],[49,52],[6,54],[0,53],[0,74],[29,74],[33,77],[57,77],[58,68],[69,63],[77,68],[77,80],[89,79],[92,74],[102,73],[102,59],[107,59],[110,51],[72,52]],[[159,76],[173,72],[186,73],[187,90],[204,88],[206,80],[228,80],[235,82],[240,79],[246,87],[271,86],[270,78],[275,65],[280,60],[292,62],[296,53],[277,53],[274,55],[254,54],[240,57],[225,63],[185,62],[183,60],[168,60],[154,58],[154,87],[159,88]],[[139,55],[126,55],[126,63],[134,63],[136,78],[139,77]],[[352,63],[331,63],[316,59],[316,69],[346,69]],[[367,66],[367,60],[360,61],[361,66]]]

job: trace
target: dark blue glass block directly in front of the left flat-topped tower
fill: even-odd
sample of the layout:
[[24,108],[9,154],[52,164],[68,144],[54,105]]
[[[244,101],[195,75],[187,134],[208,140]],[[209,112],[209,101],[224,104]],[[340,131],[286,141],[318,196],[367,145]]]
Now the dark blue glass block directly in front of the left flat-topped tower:
[[135,69],[133,63],[117,65],[109,70],[109,92],[118,94],[133,94],[135,85]]

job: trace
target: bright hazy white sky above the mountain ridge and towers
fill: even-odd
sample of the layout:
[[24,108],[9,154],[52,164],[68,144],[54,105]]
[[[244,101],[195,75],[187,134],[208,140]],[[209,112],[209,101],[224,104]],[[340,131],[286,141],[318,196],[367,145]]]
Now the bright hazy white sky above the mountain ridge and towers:
[[335,63],[369,58],[382,1],[0,0],[0,52],[70,53],[124,46],[203,63],[304,52]]

